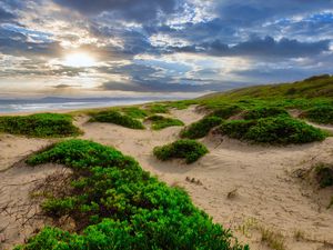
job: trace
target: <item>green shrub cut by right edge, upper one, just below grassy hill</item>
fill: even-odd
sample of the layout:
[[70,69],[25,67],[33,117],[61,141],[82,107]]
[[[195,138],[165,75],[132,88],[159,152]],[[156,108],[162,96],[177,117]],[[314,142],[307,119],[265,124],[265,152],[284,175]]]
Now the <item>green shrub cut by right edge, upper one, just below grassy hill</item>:
[[319,106],[311,108],[303,112],[301,117],[317,123],[333,124],[333,106]]

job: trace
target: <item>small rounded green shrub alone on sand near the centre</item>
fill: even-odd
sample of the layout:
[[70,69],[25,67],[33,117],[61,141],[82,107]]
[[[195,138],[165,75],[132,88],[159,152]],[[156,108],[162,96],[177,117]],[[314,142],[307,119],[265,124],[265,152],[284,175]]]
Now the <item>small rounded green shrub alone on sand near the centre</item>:
[[162,147],[155,147],[153,150],[154,156],[162,161],[172,158],[183,158],[186,163],[196,161],[208,152],[208,149],[202,143],[189,139],[178,140]]

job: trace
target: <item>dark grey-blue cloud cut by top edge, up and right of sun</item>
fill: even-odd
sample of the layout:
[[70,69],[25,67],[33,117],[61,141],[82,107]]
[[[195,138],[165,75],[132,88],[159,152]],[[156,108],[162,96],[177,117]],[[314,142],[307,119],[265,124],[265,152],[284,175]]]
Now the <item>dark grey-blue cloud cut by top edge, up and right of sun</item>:
[[104,11],[119,13],[127,20],[139,22],[153,20],[159,12],[172,13],[175,0],[54,0],[60,6],[78,10],[83,14],[99,14]]

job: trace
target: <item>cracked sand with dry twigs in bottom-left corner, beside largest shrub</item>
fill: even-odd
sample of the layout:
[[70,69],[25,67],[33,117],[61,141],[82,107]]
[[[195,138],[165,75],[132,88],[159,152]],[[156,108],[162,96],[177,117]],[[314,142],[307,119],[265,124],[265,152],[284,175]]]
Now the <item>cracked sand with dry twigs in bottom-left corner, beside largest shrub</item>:
[[57,164],[33,168],[17,163],[0,173],[0,250],[23,243],[44,227],[47,218],[38,216],[40,201],[31,200],[31,191],[46,177],[63,171],[63,167]]

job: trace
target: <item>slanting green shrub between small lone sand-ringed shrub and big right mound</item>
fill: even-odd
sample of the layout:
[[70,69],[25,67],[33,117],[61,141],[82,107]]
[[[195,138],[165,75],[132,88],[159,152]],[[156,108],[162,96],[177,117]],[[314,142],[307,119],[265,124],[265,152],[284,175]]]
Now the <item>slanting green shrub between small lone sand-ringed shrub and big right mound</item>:
[[222,121],[223,119],[219,117],[205,117],[183,129],[180,136],[189,139],[203,138],[212,128],[221,124]]

